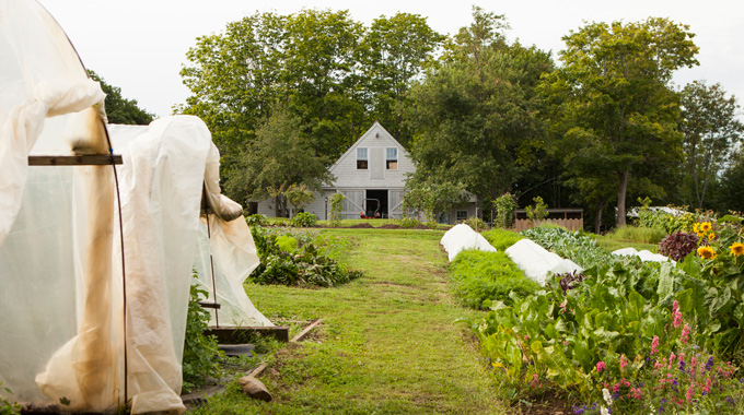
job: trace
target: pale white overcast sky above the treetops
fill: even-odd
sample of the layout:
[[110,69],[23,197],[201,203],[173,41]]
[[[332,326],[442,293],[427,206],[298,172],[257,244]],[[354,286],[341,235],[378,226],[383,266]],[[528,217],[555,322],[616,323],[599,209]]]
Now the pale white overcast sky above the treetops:
[[[75,46],[85,67],[137,99],[147,110],[165,116],[189,95],[178,72],[196,37],[221,32],[228,22],[256,11],[289,14],[309,9],[348,9],[353,20],[369,25],[380,15],[400,12],[428,17],[429,25],[454,34],[470,23],[473,3],[422,0],[39,0]],[[730,94],[744,97],[744,1],[742,0],[525,0],[481,1],[484,10],[505,14],[509,37],[523,45],[563,48],[561,37],[584,21],[635,22],[649,16],[688,24],[700,47],[700,66],[681,70],[677,84],[693,80],[719,82]],[[740,111],[741,112],[741,111]]]

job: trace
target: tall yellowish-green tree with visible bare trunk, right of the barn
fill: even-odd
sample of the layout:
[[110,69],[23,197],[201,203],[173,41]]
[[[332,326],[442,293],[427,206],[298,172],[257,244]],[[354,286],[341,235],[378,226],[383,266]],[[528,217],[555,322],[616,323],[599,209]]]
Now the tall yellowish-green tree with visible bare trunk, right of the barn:
[[553,114],[567,127],[563,153],[592,157],[597,178],[614,173],[618,225],[631,175],[681,159],[678,98],[670,83],[675,70],[698,63],[688,29],[666,19],[588,24],[563,37],[563,64],[544,80],[543,91],[559,97]]

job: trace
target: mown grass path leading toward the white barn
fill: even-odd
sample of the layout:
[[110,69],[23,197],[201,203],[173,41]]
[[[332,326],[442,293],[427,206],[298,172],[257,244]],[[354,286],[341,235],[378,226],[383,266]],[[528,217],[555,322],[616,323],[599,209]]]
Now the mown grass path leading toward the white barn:
[[345,260],[365,277],[322,289],[246,285],[269,318],[323,319],[304,342],[288,344],[258,377],[264,403],[235,383],[199,414],[503,414],[498,384],[453,300],[443,233],[324,229],[350,239]]

